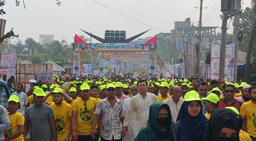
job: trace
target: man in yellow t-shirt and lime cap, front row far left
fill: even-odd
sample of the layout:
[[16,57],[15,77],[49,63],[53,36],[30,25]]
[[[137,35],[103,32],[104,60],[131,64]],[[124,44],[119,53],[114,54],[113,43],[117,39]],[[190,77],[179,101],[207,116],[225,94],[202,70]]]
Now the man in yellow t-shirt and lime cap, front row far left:
[[17,112],[19,107],[19,97],[16,95],[10,96],[8,99],[8,117],[10,120],[10,128],[4,141],[24,141],[23,129],[25,118],[22,114]]

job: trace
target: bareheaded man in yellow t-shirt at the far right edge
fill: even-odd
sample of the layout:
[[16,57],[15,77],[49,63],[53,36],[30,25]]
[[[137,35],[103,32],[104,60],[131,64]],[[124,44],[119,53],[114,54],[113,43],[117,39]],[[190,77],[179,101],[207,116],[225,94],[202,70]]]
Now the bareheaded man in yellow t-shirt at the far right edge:
[[246,131],[253,141],[256,141],[256,86],[249,88],[251,100],[245,102],[240,108],[240,116],[246,119],[243,130]]

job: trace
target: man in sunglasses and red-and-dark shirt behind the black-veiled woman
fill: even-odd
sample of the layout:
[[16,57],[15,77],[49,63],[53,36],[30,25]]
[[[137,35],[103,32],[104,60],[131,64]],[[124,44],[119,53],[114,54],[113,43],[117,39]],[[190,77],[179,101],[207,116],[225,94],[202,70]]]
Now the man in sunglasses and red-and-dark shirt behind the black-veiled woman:
[[234,107],[240,112],[242,102],[234,98],[235,86],[228,84],[225,86],[224,90],[225,97],[220,100],[219,108]]

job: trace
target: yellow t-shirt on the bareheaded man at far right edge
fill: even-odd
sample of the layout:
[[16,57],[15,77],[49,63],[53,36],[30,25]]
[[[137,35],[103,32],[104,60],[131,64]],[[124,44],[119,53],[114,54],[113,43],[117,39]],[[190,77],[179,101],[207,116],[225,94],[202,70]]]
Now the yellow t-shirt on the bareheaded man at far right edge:
[[247,133],[250,136],[256,137],[256,104],[252,103],[251,100],[245,102],[240,108],[240,115],[246,117]]

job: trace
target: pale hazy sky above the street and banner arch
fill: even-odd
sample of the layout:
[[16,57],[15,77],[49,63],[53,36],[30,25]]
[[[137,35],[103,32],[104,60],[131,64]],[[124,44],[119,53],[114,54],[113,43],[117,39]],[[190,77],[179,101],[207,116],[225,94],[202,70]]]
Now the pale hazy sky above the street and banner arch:
[[[195,8],[195,6],[200,6],[199,0],[96,1],[115,8],[114,10],[118,9],[116,11],[141,23],[99,5],[93,0],[61,0],[61,6],[56,5],[56,0],[25,0],[26,9],[24,9],[22,1],[20,1],[20,6],[16,7],[14,0],[8,0],[8,3],[4,6],[7,14],[0,16],[0,18],[7,20],[5,33],[13,27],[14,32],[19,34],[19,39],[23,43],[28,37],[38,42],[39,34],[53,34],[55,40],[66,39],[68,43],[73,42],[75,34],[89,37],[80,29],[92,32],[102,38],[104,38],[105,30],[125,30],[126,38],[129,38],[151,29],[141,36],[148,37],[174,29],[174,22],[184,21],[185,18],[191,15],[191,20],[195,25],[199,21],[199,9]],[[242,9],[250,7],[250,2],[250,0],[244,0]],[[221,20],[218,18],[220,15],[220,0],[204,0],[203,7],[207,6],[208,8],[203,9],[203,26],[221,26]],[[227,32],[232,33],[232,30],[231,27]],[[16,40],[12,39],[11,41]],[[93,39],[92,42],[97,41]]]

